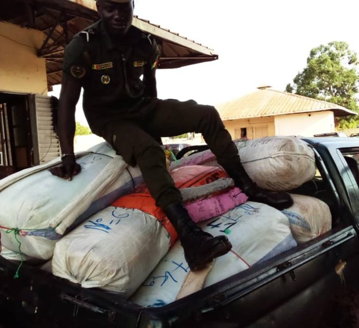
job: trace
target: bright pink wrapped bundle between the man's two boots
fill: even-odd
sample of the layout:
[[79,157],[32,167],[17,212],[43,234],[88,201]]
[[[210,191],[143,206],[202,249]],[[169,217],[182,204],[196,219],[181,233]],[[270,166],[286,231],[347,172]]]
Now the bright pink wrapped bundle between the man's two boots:
[[248,197],[239,188],[232,188],[218,196],[187,202],[184,207],[197,223],[228,212],[247,200]]

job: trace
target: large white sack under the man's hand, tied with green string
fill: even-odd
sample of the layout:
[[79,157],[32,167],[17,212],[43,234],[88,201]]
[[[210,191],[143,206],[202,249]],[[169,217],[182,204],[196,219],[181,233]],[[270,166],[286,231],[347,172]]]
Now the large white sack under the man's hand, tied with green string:
[[8,232],[1,234],[4,247],[50,259],[63,234],[142,182],[140,170],[127,168],[106,142],[76,157],[82,170],[71,182],[48,171],[61,158],[0,181],[0,229]]

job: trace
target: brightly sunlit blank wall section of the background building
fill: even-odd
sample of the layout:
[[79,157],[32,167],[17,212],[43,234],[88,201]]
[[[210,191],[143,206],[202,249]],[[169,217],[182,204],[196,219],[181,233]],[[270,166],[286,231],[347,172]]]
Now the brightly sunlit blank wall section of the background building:
[[275,116],[275,135],[312,137],[317,133],[334,132],[332,111]]

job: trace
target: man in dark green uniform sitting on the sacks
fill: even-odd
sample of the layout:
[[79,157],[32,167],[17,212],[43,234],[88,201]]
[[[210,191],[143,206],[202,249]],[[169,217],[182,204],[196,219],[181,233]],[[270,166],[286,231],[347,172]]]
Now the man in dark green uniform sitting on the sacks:
[[191,220],[156,140],[202,133],[218,163],[250,200],[284,209],[292,205],[292,198],[284,192],[264,191],[252,182],[214,107],[157,98],[159,48],[152,35],[131,26],[131,0],[97,0],[96,5],[101,19],[75,35],[65,50],[58,117],[64,154],[62,165],[51,173],[71,180],[81,170],[73,154],[73,137],[82,87],[83,109],[92,132],[110,142],[129,165],[139,166],[156,205],[178,232],[188,266],[199,270],[228,253],[232,245],[226,236],[213,237]]

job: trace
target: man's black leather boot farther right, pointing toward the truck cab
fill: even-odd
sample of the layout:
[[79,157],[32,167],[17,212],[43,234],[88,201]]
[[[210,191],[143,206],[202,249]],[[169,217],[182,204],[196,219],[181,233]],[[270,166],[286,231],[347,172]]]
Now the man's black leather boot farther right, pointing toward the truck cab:
[[248,200],[264,203],[278,210],[284,210],[293,205],[293,199],[290,194],[283,191],[267,191],[258,187],[248,176],[247,172],[245,172],[241,164],[235,168],[224,167],[224,169],[234,180],[235,186],[248,196]]

